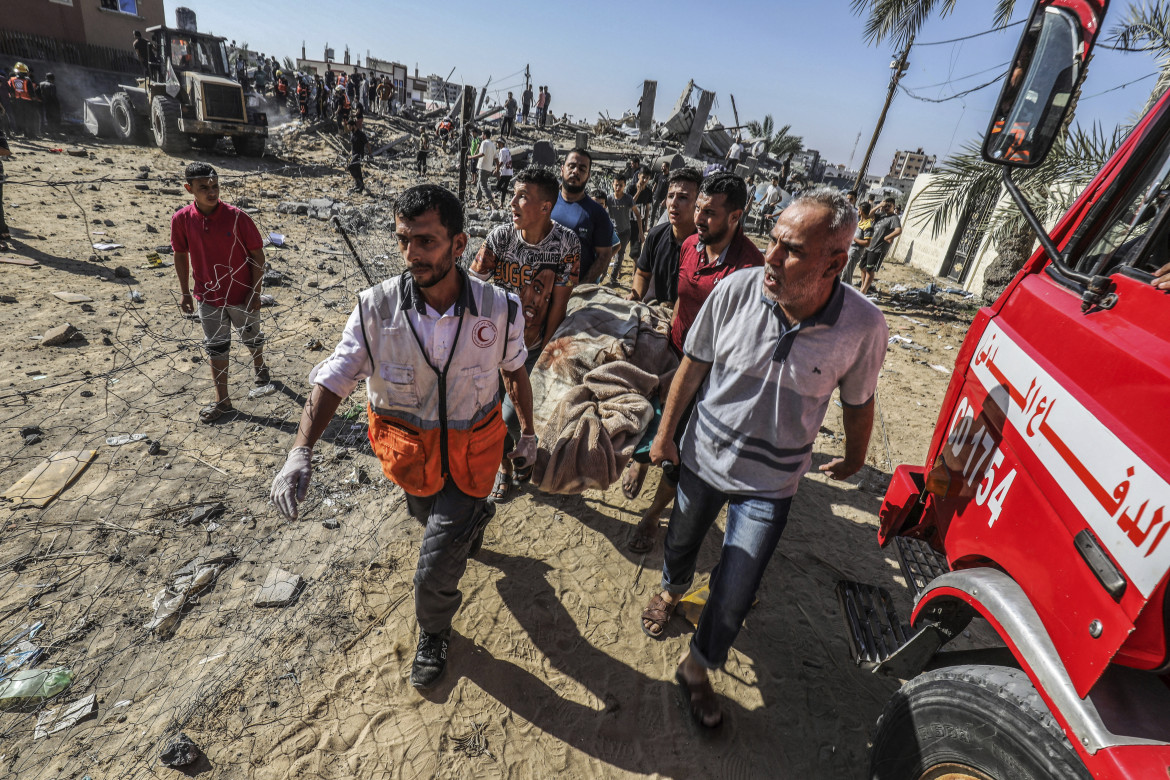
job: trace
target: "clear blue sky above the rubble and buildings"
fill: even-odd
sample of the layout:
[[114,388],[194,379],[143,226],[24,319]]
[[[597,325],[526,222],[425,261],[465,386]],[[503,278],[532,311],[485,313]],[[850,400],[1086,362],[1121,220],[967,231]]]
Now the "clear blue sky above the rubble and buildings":
[[[848,0],[716,0],[696,2],[472,2],[469,0],[184,0],[199,28],[280,57],[300,56],[305,42],[319,58],[328,42],[338,57],[366,51],[398,60],[421,75],[446,75],[477,87],[510,87],[510,76],[531,65],[534,84],[548,84],[556,113],[593,120],[633,109],[645,78],[658,81],[655,118],[663,119],[689,78],[717,95],[715,113],[732,124],[730,95],[741,120],[771,113],[791,124],[805,145],[832,163],[858,165],[881,111],[894,57],[890,44],[868,46],[863,20]],[[932,42],[991,26],[989,1],[959,0],[945,19],[931,19],[918,35]],[[173,23],[174,5],[167,4]],[[1017,5],[1023,19],[1030,2]],[[1126,8],[1114,2],[1103,26],[1113,29]],[[1020,27],[959,43],[916,46],[902,83],[941,98],[992,78],[1014,49]],[[984,71],[970,78],[970,74]],[[1089,67],[1078,118],[1106,129],[1131,122],[1154,78],[1096,95],[1157,69],[1148,54],[1097,49]],[[949,83],[943,83],[949,82]],[[521,87],[517,89],[517,96]],[[882,173],[895,150],[922,147],[940,158],[982,137],[999,87],[945,103],[895,98],[870,171]],[[860,141],[858,140],[860,133]],[[855,151],[854,151],[855,150]]]

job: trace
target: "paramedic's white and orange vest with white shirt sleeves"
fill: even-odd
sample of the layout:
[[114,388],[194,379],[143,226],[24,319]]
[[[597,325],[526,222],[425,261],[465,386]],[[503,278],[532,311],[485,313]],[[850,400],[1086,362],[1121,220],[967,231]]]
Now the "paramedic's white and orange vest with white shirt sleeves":
[[456,272],[462,289],[446,312],[424,302],[408,272],[363,291],[333,353],[309,374],[340,398],[366,380],[370,444],[412,496],[453,479],[487,498],[508,432],[500,370],[528,358],[519,299]]

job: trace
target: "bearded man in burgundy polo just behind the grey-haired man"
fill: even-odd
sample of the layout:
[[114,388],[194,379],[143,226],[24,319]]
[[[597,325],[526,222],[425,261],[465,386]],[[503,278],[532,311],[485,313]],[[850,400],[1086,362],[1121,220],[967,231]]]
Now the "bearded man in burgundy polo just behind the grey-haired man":
[[[734,173],[716,173],[703,179],[695,201],[695,235],[682,243],[679,253],[679,299],[670,320],[670,346],[682,358],[682,345],[687,331],[703,308],[703,302],[715,290],[715,285],[742,268],[764,264],[764,255],[751,242],[741,226],[743,209],[748,203],[748,186]],[[662,378],[662,393],[668,392],[673,375]],[[693,406],[693,405],[691,405]],[[690,417],[691,407],[682,413],[681,427]],[[681,434],[677,434],[681,437]],[[635,553],[649,552],[658,537],[659,520],[667,504],[674,501],[677,489],[677,472],[663,474],[658,492],[634,534],[629,550]]]

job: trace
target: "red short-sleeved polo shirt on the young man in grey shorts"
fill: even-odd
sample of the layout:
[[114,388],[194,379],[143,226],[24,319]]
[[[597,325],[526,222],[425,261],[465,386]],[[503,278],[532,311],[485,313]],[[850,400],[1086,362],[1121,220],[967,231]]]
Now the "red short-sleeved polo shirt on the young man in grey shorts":
[[209,216],[190,203],[171,218],[171,248],[191,256],[192,294],[211,306],[242,305],[252,292],[248,253],[263,247],[252,218],[220,201]]

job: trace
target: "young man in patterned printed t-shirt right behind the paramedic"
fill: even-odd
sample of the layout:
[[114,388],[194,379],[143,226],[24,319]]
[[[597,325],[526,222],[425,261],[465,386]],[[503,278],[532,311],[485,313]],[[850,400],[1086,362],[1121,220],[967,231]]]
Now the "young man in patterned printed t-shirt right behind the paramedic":
[[[528,347],[524,367],[531,372],[541,350],[565,318],[565,306],[580,272],[581,247],[576,233],[552,221],[560,182],[550,171],[528,167],[515,182],[512,223],[501,225],[488,234],[470,270],[484,282],[494,282],[519,297]],[[509,437],[518,440],[519,420],[507,396],[503,415]],[[510,449],[505,443],[504,451]],[[511,461],[504,457],[491,501],[508,498],[515,484]]]

